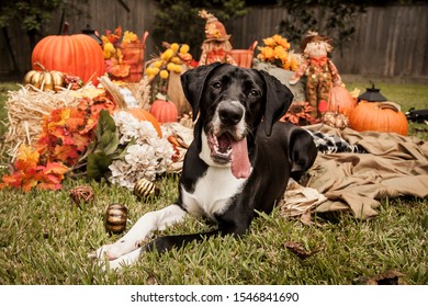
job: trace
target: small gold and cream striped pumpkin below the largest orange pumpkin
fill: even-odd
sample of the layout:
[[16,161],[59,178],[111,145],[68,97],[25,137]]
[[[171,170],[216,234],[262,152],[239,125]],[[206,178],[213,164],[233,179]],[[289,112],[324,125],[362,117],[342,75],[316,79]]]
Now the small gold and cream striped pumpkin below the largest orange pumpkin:
[[31,84],[42,91],[58,92],[64,87],[64,73],[57,70],[47,70],[42,64],[36,61],[35,66],[42,70],[30,70],[24,76],[24,86]]

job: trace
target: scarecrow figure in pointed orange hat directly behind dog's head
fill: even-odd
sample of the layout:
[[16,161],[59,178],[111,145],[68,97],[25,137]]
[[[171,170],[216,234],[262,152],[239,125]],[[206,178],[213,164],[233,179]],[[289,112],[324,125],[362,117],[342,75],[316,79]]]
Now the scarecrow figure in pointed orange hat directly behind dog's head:
[[205,41],[202,44],[202,55],[199,65],[209,65],[214,61],[228,62],[236,65],[229,55],[232,44],[230,35],[227,35],[224,25],[211,13],[205,10],[199,12],[199,15],[206,20]]

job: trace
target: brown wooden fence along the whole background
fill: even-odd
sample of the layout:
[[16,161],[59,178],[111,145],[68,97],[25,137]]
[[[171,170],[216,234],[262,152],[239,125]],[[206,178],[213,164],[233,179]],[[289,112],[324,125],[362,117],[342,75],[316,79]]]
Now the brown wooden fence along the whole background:
[[[79,33],[87,24],[100,33],[121,25],[123,30],[140,36],[145,31],[153,32],[156,8],[156,2],[150,0],[91,0],[81,8],[83,14],[67,15],[66,20],[74,33]],[[254,41],[261,44],[262,38],[275,34],[277,25],[285,16],[286,10],[278,7],[255,7],[248,15],[226,23],[226,27],[228,34],[233,35],[235,48],[248,48]],[[57,34],[59,23],[58,12],[45,26],[44,35]],[[394,77],[428,83],[428,5],[370,7],[367,13],[357,19],[356,27],[354,38],[349,46],[333,54],[340,73]],[[19,21],[8,32],[9,42],[5,42],[4,35],[0,35],[0,78],[3,79],[13,69],[7,43],[14,52],[20,70],[25,72],[31,68],[29,38],[20,31]],[[149,35],[146,59],[156,49]]]

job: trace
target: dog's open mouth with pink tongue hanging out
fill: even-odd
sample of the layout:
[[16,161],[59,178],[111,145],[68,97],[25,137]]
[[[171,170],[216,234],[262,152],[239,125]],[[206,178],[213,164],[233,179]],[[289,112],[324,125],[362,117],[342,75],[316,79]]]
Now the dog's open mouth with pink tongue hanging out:
[[238,179],[249,177],[251,166],[248,158],[247,138],[236,140],[228,133],[219,136],[209,133],[207,143],[214,162],[230,163],[232,173]]

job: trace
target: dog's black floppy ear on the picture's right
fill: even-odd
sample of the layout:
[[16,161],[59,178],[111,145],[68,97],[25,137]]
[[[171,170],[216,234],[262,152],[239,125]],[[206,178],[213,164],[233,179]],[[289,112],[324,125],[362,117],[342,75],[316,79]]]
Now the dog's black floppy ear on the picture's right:
[[263,115],[264,132],[272,133],[273,124],[285,114],[293,101],[293,93],[275,77],[263,70],[258,70],[266,83],[266,109]]

